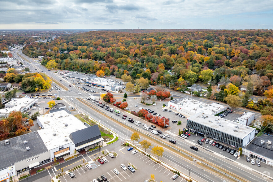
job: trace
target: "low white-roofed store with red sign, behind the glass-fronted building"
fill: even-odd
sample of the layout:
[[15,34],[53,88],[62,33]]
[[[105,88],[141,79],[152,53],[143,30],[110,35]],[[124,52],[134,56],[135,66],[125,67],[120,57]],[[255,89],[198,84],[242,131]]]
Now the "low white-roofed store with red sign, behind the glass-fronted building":
[[216,102],[205,104],[203,102],[187,97],[169,101],[168,107],[187,116],[192,116],[200,112],[216,115],[222,111],[227,110],[227,106],[223,106]]

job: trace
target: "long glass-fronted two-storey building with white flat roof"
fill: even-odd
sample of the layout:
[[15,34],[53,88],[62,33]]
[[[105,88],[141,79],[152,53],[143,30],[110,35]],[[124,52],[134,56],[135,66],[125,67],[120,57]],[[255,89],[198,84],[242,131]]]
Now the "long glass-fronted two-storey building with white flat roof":
[[187,128],[236,148],[247,145],[255,136],[255,128],[204,112],[189,117]]

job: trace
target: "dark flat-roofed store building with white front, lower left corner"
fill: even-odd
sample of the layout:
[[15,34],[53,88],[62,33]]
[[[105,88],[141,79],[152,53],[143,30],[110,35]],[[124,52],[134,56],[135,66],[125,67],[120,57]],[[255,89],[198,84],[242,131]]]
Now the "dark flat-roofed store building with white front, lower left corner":
[[37,132],[1,141],[0,153],[1,169],[13,166],[14,175],[50,162],[50,153]]

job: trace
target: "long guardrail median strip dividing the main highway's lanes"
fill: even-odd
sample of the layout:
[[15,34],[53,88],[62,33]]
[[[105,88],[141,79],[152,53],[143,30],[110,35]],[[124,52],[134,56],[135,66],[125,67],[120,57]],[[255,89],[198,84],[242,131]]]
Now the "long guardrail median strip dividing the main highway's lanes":
[[[89,106],[91,106],[92,108],[94,108],[94,109],[96,109],[96,110],[98,110],[98,111],[100,111],[100,112],[106,114],[107,116],[109,116],[109,117],[111,117],[111,118],[113,118],[113,119],[115,119],[115,120],[117,120],[117,121],[119,121],[119,122],[122,122],[121,120],[116,119],[115,117],[109,115],[108,113],[106,113],[106,112],[104,112],[104,111],[98,109],[97,107],[94,107],[93,105],[89,104],[89,103],[86,102],[85,100],[82,100],[81,98],[79,98],[79,99],[80,99],[82,102],[85,102],[86,104],[88,104]],[[234,180],[236,180],[236,181],[241,181],[241,180],[238,180],[237,178],[235,178],[235,177],[233,177],[233,176],[231,176],[231,175],[229,175],[229,174],[227,174],[227,173],[225,173],[225,172],[223,172],[223,171],[217,169],[216,167],[213,167],[213,166],[211,166],[211,165],[209,165],[209,164],[207,164],[207,163],[205,163],[205,162],[203,162],[203,161],[201,161],[201,160],[199,160],[199,159],[197,159],[197,158],[195,158],[195,157],[193,157],[193,156],[191,156],[191,155],[189,155],[189,154],[187,154],[187,153],[185,153],[185,152],[183,152],[183,151],[181,151],[181,150],[179,150],[179,149],[176,149],[176,148],[173,147],[172,145],[166,144],[166,143],[164,143],[163,141],[158,140],[158,138],[155,138],[155,137],[153,137],[153,136],[151,136],[151,135],[148,135],[146,132],[143,132],[143,131],[141,131],[141,130],[138,129],[138,128],[132,127],[131,125],[129,125],[129,124],[127,124],[127,123],[124,123],[124,122],[122,122],[122,123],[125,124],[125,125],[127,125],[128,127],[134,128],[134,129],[137,130],[138,132],[141,132],[142,134],[144,134],[144,135],[146,135],[146,136],[149,136],[149,137],[153,138],[154,140],[156,140],[156,141],[158,141],[158,142],[160,142],[160,143],[162,143],[162,144],[164,144],[164,145],[167,145],[168,147],[171,147],[172,149],[174,149],[174,150],[176,150],[176,151],[178,151],[178,152],[180,152],[180,153],[182,153],[182,154],[184,154],[184,155],[186,155],[186,156],[188,156],[188,157],[190,157],[190,158],[193,158],[195,161],[197,161],[197,162],[199,162],[199,163],[202,163],[202,164],[204,164],[204,165],[206,165],[206,166],[208,166],[208,167],[214,169],[215,171],[218,171],[218,172],[220,172],[220,173],[222,173],[222,174],[224,174],[224,175],[227,175],[228,177],[230,177],[230,178],[232,178],[232,179],[234,179]]]

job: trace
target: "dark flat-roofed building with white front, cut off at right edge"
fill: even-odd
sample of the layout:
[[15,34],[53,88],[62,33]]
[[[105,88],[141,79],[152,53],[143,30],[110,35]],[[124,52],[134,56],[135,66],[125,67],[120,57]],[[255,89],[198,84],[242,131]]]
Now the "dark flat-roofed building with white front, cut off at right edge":
[[249,157],[273,166],[273,136],[264,133],[255,137],[246,146],[246,152],[249,153]]

